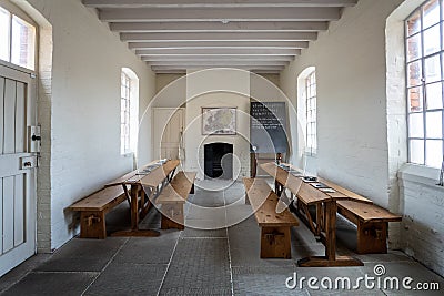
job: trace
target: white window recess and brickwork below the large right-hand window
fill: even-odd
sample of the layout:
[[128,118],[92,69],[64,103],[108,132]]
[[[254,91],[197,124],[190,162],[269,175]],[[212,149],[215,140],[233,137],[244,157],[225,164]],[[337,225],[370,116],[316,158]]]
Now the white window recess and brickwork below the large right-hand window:
[[[404,1],[389,18],[387,131],[391,183],[398,182],[397,198],[391,198],[404,214],[401,247],[436,273],[444,275],[444,188],[437,186],[440,171],[414,164],[407,159],[404,20],[423,0]],[[392,172],[400,172],[393,176]],[[394,194],[395,191],[392,191]]]

